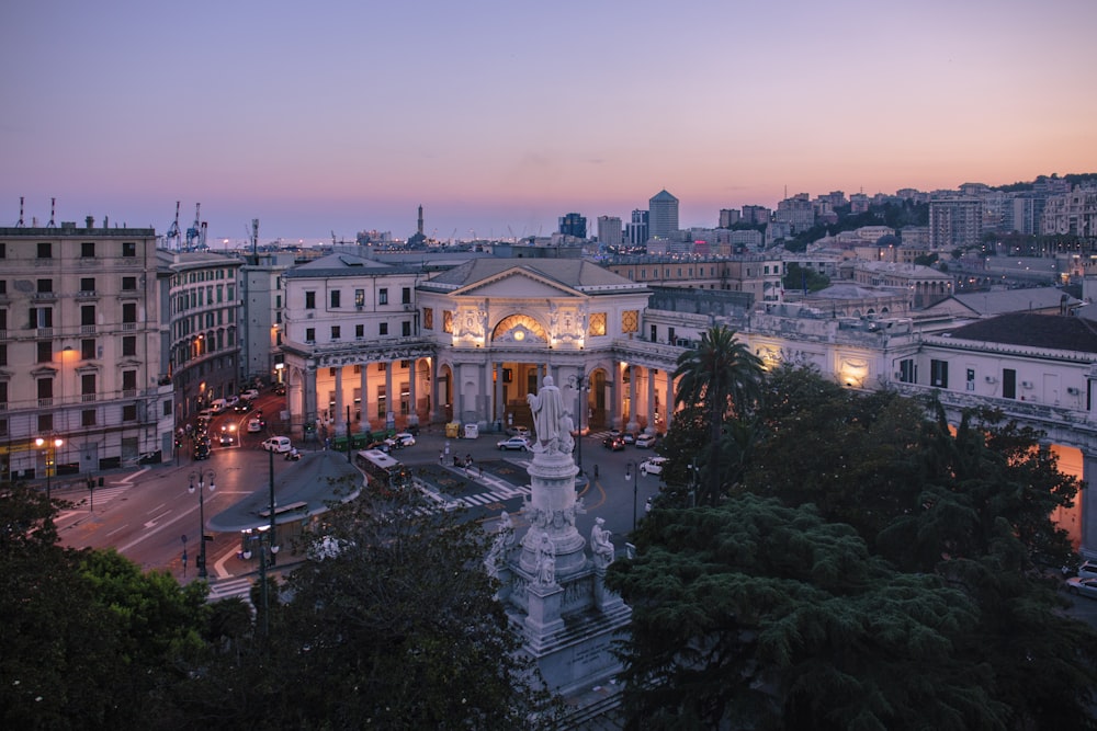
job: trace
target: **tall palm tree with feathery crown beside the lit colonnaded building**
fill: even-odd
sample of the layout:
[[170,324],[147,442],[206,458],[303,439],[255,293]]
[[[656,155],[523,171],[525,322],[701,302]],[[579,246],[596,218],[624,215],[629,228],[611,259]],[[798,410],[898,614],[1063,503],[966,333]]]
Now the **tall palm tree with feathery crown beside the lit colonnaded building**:
[[720,495],[720,446],[724,422],[742,418],[761,392],[761,361],[725,325],[712,325],[701,333],[693,350],[678,356],[675,370],[678,390],[675,406],[703,406],[708,415],[710,439],[706,461],[708,488],[704,495],[715,504]]

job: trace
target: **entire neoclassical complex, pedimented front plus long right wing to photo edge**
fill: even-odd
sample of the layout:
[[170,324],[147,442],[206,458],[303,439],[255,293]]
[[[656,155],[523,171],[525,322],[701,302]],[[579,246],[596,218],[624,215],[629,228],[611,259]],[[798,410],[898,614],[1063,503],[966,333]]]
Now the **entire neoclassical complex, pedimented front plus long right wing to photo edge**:
[[[1097,323],[1078,318],[930,330],[903,317],[756,309],[743,293],[653,289],[580,259],[485,258],[431,275],[332,254],[286,273],[286,302],[295,437],[423,421],[529,425],[525,396],[544,376],[574,404],[576,426],[661,432],[678,356],[725,324],[769,367],[812,365],[858,390],[936,392],[953,419],[965,407],[1002,409],[1047,432],[1064,471],[1097,475]],[[1083,495],[1058,518],[1097,555],[1097,501]]]

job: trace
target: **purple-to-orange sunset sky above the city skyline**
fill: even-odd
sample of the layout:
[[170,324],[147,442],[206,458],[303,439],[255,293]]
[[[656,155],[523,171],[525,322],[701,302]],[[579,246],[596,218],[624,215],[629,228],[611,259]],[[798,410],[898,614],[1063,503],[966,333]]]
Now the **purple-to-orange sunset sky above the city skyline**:
[[0,226],[680,222],[1097,172],[1094,0],[5,0]]

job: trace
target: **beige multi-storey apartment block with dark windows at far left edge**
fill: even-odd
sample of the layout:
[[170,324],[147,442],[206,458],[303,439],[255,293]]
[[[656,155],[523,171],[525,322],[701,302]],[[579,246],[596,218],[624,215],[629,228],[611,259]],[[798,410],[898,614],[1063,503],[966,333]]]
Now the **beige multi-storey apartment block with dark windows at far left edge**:
[[2,478],[93,477],[171,455],[156,233],[0,228]]

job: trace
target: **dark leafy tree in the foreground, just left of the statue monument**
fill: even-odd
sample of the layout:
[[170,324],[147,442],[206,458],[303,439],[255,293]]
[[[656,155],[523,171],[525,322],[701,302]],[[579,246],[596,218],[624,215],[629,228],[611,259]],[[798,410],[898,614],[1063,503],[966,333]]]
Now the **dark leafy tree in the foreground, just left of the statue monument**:
[[219,664],[193,694],[202,713],[259,728],[547,722],[550,697],[484,571],[483,528],[428,509],[406,491],[326,514],[302,547],[314,558],[272,599],[265,644]]

